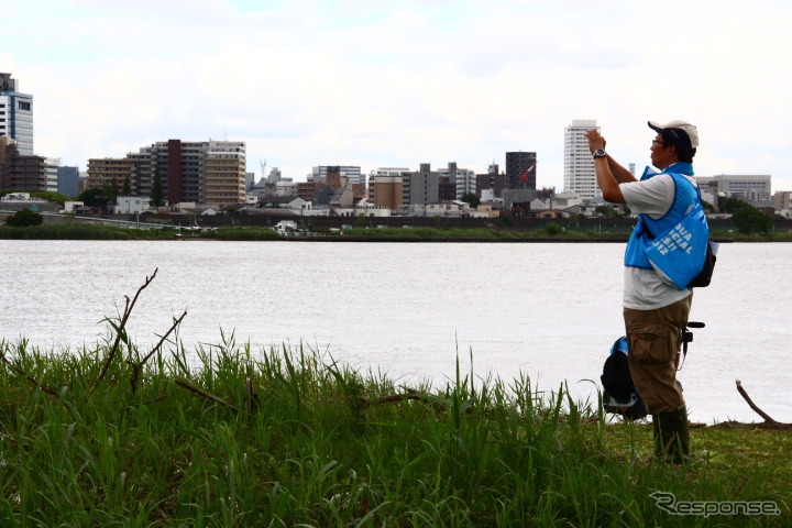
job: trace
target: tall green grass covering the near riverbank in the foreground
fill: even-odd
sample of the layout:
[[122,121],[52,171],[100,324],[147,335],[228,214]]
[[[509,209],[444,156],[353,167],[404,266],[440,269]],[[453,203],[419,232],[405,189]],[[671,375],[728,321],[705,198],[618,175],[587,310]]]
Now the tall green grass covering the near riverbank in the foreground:
[[[223,334],[188,353],[186,312],[151,350],[125,331],[156,272],[78,350],[0,342],[0,526],[789,526],[788,431],[695,428],[696,458],[653,460],[562,385],[479,378],[399,387],[300,345]],[[471,353],[472,355],[472,353]],[[471,363],[473,358],[471,356]],[[671,515],[762,502],[769,515]]]

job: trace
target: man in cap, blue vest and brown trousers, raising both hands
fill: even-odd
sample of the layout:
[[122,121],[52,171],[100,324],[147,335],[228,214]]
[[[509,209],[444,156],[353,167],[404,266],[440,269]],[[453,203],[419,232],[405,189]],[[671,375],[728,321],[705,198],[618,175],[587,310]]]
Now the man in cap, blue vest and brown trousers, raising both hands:
[[586,138],[603,198],[627,204],[640,219],[625,252],[623,305],[629,369],[647,413],[652,415],[654,454],[682,462],[690,452],[690,432],[676,367],[692,292],[679,289],[659,274],[644,249],[647,238],[669,231],[701,200],[693,179],[698,132],[684,121],[649,121],[649,127],[657,132],[651,163],[661,173],[647,167],[640,180],[605,152],[600,132],[590,130]]

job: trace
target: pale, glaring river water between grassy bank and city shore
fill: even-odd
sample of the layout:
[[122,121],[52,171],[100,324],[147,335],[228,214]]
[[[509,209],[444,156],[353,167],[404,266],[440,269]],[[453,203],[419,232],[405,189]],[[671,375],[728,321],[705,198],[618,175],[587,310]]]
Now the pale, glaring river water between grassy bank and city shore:
[[[300,344],[399,384],[455,375],[594,398],[623,334],[623,244],[0,240],[0,339],[74,350],[141,293],[128,329],[150,348],[187,311],[188,350],[221,330],[255,351]],[[692,419],[792,421],[792,244],[723,244],[695,293],[680,380]],[[471,365],[472,353],[472,365]]]

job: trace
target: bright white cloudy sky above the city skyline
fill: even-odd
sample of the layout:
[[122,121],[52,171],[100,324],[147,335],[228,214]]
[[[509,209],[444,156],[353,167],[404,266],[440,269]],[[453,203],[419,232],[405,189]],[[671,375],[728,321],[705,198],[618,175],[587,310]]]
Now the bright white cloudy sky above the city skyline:
[[563,131],[595,119],[625,165],[646,121],[698,127],[696,174],[792,190],[792,2],[28,0],[0,72],[32,94],[35,150],[86,168],[155,141],[237,140],[315,165],[485,172],[535,151],[563,188]]

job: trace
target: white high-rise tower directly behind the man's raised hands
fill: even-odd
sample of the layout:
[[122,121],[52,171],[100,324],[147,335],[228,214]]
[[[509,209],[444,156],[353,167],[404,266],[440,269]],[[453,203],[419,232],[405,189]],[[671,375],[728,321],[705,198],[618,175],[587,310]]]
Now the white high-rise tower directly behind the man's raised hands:
[[574,120],[564,129],[564,193],[590,199],[602,196],[585,138],[586,131],[592,129],[600,130],[593,119]]

